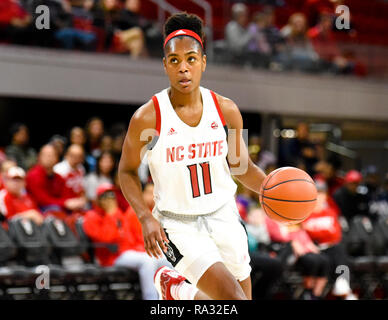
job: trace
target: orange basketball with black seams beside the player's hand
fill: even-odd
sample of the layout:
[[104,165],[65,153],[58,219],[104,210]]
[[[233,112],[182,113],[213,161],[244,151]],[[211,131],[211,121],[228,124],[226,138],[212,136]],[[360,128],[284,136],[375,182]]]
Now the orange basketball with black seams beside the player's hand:
[[272,171],[260,190],[260,203],[271,219],[297,224],[307,219],[317,202],[313,179],[303,170],[283,167]]

